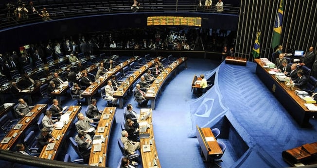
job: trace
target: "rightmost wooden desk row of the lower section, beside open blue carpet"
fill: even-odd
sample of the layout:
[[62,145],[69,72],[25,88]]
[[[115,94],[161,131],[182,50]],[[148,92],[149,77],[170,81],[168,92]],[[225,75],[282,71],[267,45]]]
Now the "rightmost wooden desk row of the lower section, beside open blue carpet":
[[[140,118],[145,116],[146,114],[151,113],[150,117],[146,119],[147,123],[149,123],[150,128],[146,130],[147,134],[150,134],[149,138],[140,138],[140,150],[142,157],[142,166],[143,168],[161,168],[161,165],[158,160],[158,151],[155,145],[153,125],[152,125],[152,109],[141,109]],[[142,133],[141,133],[142,134]],[[150,145],[151,151],[143,151],[143,145]]]

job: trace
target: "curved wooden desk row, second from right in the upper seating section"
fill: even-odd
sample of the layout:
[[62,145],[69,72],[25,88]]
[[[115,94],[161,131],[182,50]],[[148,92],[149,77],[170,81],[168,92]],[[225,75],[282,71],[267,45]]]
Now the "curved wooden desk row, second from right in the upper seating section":
[[[128,76],[128,78],[121,84],[118,88],[118,90],[112,95],[114,98],[119,99],[119,108],[123,108],[123,96],[126,94],[126,92],[131,88],[133,83],[135,83],[141,75],[146,72],[152,65],[157,63],[162,57],[157,57],[153,59],[152,61],[149,61],[142,67],[140,67],[138,70],[136,70],[133,74]],[[133,88],[131,88],[132,91]]]

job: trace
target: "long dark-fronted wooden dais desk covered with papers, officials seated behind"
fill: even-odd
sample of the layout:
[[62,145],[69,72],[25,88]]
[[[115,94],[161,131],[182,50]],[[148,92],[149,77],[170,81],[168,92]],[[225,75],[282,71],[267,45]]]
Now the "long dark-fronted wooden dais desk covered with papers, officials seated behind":
[[[257,63],[255,73],[272,92],[272,94],[281,102],[287,112],[296,120],[301,127],[309,127],[309,118],[317,114],[317,111],[310,111],[304,105],[304,102],[296,94],[295,90],[290,90],[285,82],[275,78],[275,75],[269,74],[269,68],[264,68],[264,63],[260,59],[254,59]],[[299,88],[294,88],[299,90]]]

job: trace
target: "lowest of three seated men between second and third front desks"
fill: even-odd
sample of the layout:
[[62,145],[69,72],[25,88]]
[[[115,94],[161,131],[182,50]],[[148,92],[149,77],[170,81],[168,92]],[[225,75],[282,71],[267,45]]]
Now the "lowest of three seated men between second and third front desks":
[[91,138],[87,138],[86,133],[83,131],[80,131],[75,136],[75,142],[78,144],[79,152],[83,156],[85,163],[88,163],[89,157],[90,157],[90,150],[92,146]]

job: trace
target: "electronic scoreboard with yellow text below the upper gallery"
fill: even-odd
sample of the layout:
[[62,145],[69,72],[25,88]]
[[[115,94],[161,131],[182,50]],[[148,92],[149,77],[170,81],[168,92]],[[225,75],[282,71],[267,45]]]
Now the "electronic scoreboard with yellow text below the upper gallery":
[[147,17],[147,25],[201,27],[201,17]]

